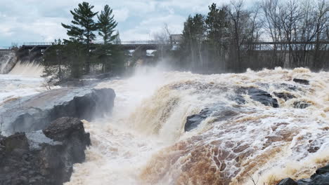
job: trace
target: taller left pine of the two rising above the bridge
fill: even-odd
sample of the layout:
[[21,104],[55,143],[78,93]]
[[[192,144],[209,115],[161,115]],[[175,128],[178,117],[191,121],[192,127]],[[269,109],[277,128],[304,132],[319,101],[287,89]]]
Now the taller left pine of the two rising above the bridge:
[[62,23],[62,26],[67,29],[67,35],[70,36],[70,41],[66,42],[75,42],[75,43],[84,43],[86,44],[86,66],[85,72],[89,73],[90,71],[90,45],[91,41],[96,39],[96,35],[93,33],[98,29],[96,22],[93,21],[93,17],[97,15],[98,12],[94,13],[92,11],[94,6],[91,6],[89,3],[83,2],[78,5],[78,8],[75,8],[74,11],[70,11],[73,15],[72,25],[65,25]]

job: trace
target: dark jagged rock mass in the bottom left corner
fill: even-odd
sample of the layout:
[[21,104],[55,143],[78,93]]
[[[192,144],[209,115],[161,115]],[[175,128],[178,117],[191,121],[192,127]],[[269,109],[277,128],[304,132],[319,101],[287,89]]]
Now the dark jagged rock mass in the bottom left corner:
[[58,142],[33,147],[22,132],[0,139],[1,185],[59,185],[70,180],[72,165],[84,162],[84,150],[90,145],[83,123],[77,118],[59,118],[43,132]]

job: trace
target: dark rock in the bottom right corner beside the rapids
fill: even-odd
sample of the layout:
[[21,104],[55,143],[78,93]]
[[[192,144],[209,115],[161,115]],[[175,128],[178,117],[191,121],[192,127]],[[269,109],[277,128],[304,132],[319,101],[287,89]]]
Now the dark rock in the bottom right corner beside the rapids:
[[277,185],[328,185],[329,184],[329,165],[321,167],[312,174],[310,179],[300,179],[297,182],[287,178],[280,181]]

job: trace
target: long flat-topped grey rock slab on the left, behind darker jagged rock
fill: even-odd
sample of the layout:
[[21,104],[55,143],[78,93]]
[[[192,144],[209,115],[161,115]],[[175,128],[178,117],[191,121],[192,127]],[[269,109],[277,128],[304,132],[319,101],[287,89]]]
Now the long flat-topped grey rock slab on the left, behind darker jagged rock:
[[61,88],[14,100],[0,108],[6,133],[31,132],[46,128],[61,117],[91,120],[114,106],[112,89]]

